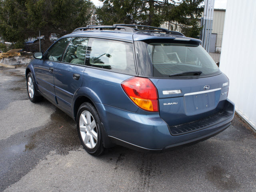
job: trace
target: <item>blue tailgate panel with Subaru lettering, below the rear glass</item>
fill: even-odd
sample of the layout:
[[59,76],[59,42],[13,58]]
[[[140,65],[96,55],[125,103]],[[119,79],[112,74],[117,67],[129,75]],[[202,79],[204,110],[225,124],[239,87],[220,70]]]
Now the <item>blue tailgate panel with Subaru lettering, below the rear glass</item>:
[[[197,79],[150,78],[158,89],[160,117],[169,125],[194,122],[222,111],[228,93],[224,74]],[[178,94],[166,94],[181,90]],[[168,92],[167,92],[168,93]]]

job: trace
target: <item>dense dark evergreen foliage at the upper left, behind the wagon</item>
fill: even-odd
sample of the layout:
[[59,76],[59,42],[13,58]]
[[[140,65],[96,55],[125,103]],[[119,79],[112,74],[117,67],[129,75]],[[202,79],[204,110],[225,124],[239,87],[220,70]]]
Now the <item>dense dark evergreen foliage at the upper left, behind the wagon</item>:
[[84,26],[92,3],[87,0],[0,0],[0,36],[23,47],[28,37],[39,34],[49,41]]

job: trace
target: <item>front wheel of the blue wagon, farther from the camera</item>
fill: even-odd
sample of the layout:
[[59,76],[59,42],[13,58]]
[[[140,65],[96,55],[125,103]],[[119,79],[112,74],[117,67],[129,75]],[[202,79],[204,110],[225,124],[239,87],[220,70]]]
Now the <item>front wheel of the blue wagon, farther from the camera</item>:
[[42,96],[38,94],[34,85],[35,85],[34,79],[30,72],[28,73],[28,76],[27,76],[27,91],[28,91],[28,98],[33,103],[42,100]]

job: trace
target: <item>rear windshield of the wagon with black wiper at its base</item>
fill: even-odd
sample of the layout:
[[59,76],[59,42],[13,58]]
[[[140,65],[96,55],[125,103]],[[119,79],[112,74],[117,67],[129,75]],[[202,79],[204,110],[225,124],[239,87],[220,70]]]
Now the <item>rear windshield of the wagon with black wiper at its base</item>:
[[[136,48],[142,76],[191,78],[220,73],[214,60],[201,45],[137,41]],[[180,73],[183,73],[182,76],[174,75]]]

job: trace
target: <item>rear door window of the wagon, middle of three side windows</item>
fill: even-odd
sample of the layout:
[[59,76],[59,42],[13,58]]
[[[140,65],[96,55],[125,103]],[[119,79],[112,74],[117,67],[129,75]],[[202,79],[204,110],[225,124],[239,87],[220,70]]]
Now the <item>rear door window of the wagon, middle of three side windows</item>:
[[84,65],[88,40],[89,38],[85,37],[74,37],[68,44],[68,48],[62,57],[62,61]]

